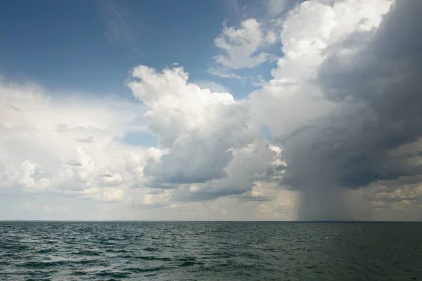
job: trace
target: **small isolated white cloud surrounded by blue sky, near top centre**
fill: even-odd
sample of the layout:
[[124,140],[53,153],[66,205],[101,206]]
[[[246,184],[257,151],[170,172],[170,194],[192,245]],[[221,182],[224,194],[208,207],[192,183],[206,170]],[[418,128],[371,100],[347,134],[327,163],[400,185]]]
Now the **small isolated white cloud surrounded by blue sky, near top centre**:
[[262,30],[255,18],[244,20],[238,28],[224,25],[222,34],[214,40],[214,44],[226,51],[227,55],[217,55],[214,59],[224,67],[252,68],[270,59],[268,53],[257,53],[258,49],[275,42],[276,34]]

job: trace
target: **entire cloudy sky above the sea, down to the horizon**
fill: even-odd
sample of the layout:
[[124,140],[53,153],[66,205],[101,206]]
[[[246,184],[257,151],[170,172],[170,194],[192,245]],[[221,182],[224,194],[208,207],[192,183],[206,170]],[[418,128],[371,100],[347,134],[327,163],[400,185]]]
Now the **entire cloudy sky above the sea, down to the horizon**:
[[421,12],[4,1],[0,219],[421,221]]

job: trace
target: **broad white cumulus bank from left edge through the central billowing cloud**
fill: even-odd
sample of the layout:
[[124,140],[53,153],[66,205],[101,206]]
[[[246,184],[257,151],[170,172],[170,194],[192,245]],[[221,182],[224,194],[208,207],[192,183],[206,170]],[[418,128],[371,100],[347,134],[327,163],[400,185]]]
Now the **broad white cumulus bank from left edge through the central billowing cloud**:
[[[1,105],[20,108],[5,107],[0,120],[1,192],[173,208],[271,180],[280,153],[261,136],[248,100],[191,84],[181,67],[136,67],[128,86],[142,103],[1,84]],[[157,148],[122,143],[146,125]]]

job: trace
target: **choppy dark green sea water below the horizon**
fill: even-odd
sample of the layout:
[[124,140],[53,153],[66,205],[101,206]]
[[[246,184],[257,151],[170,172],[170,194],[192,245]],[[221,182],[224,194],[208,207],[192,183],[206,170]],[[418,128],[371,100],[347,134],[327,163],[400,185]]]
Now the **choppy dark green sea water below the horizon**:
[[422,280],[422,223],[0,222],[0,280]]

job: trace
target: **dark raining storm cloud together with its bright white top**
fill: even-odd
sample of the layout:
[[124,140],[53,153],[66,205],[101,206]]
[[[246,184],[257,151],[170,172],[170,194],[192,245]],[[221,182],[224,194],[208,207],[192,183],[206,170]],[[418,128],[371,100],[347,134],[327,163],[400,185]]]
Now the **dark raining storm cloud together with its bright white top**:
[[[417,151],[397,152],[421,136],[415,106],[421,103],[421,63],[415,63],[421,41],[411,35],[421,26],[414,14],[421,5],[399,2],[383,19],[391,3],[305,2],[286,18],[281,37],[290,40],[274,76],[287,79],[294,61],[296,81],[311,78],[313,91],[332,105],[280,138],[288,166],[281,183],[304,192],[302,218],[354,218],[354,210],[343,207],[344,188],[422,172]],[[302,58],[305,71],[298,68]]]

